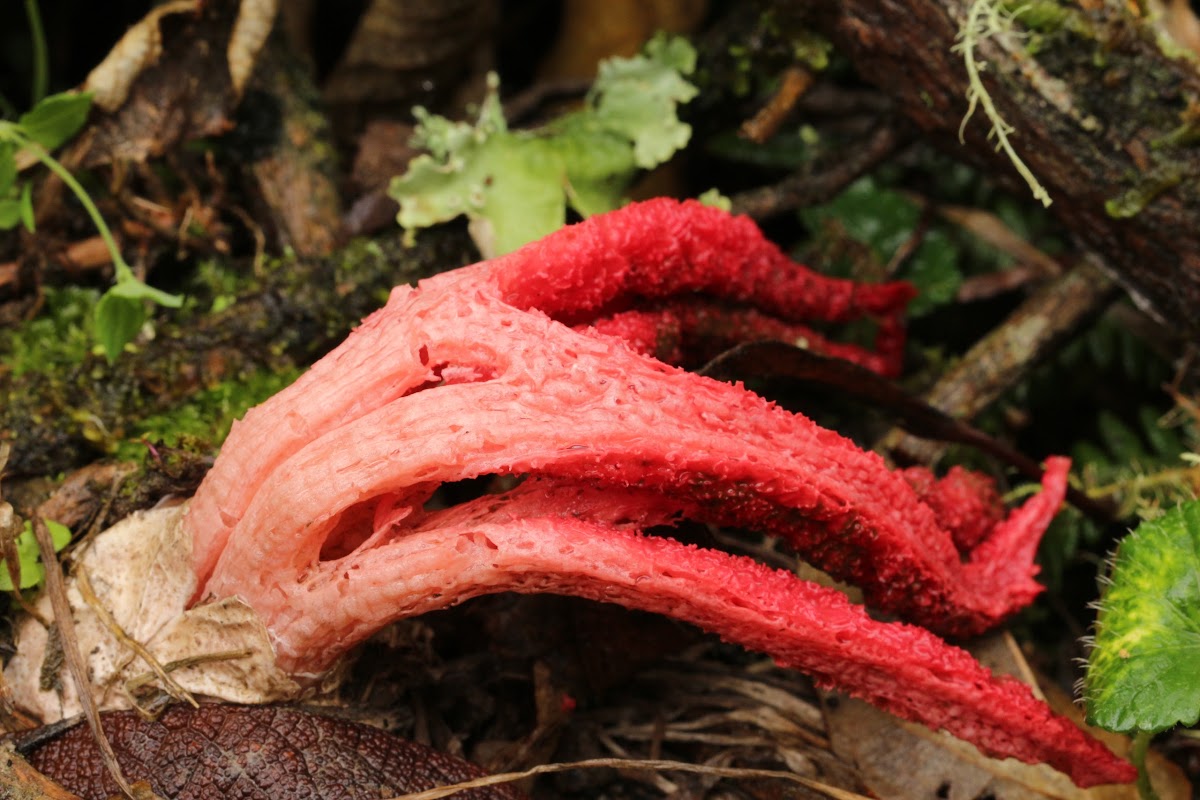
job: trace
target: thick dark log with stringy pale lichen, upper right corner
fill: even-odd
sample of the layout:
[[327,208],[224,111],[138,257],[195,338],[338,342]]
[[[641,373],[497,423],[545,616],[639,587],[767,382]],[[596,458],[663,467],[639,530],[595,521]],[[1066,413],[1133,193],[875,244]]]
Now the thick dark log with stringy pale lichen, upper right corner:
[[[1200,333],[1200,72],[1123,0],[977,0],[1015,13],[976,42],[984,89],[1051,211],[1141,301]],[[948,152],[1027,192],[954,46],[971,0],[787,0]],[[1008,28],[1009,30],[1003,30]],[[962,126],[964,143],[959,142]]]

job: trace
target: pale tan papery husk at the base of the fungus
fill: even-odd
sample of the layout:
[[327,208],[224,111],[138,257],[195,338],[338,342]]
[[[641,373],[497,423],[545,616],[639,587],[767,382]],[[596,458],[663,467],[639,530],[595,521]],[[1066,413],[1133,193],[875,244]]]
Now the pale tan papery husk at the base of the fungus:
[[[301,687],[276,668],[266,630],[245,603],[230,599],[185,610],[196,589],[191,540],[181,524],[185,510],[138,512],[96,536],[77,559],[96,597],[155,660],[176,667],[172,676],[193,694],[240,703],[299,697]],[[149,667],[84,602],[73,578],[67,597],[100,708],[128,708],[126,684],[146,682]],[[46,599],[38,604],[48,615]],[[79,702],[70,681],[58,691],[40,688],[47,639],[37,620],[24,618],[17,655],[5,673],[14,703],[49,722],[77,714]]]

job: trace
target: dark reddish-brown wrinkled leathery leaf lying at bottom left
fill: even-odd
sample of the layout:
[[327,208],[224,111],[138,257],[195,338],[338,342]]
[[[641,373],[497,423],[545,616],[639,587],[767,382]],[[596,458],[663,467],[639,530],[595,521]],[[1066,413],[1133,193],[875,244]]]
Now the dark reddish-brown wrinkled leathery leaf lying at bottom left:
[[[146,722],[103,715],[121,768],[172,800],[314,798],[358,800],[421,792],[482,775],[468,762],[370,726],[289,706],[173,706]],[[85,726],[18,742],[29,763],[84,800],[115,792]],[[464,800],[517,800],[511,787],[475,789]]]

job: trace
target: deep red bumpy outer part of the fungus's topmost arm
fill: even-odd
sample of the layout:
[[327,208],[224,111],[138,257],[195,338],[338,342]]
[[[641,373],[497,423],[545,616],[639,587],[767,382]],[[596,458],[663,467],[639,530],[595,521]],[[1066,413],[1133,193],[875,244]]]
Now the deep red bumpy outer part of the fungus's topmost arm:
[[[847,321],[899,314],[902,282],[832,278],[792,261],[749,217],[658,198],[568,225],[521,249],[431,278],[488,285],[517,308],[587,315],[630,297],[704,293],[781,319]],[[572,320],[578,321],[578,320]]]

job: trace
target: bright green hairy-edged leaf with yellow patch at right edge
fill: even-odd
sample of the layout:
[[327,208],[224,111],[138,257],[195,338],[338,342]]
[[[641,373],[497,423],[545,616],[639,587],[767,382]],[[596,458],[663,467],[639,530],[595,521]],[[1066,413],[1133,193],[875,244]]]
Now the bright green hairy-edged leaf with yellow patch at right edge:
[[1117,548],[1084,698],[1108,730],[1200,720],[1200,500],[1141,523]]

